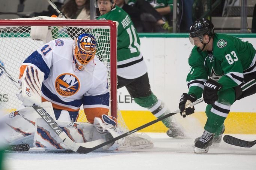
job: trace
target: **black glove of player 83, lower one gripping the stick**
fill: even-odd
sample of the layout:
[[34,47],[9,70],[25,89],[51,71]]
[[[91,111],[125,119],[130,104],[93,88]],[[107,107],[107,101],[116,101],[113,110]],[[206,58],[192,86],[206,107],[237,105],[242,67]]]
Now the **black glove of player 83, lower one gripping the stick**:
[[195,112],[194,106],[189,106],[190,103],[196,101],[196,96],[193,94],[183,93],[181,100],[179,100],[179,109],[181,109],[181,116],[186,117],[186,115],[191,115]]

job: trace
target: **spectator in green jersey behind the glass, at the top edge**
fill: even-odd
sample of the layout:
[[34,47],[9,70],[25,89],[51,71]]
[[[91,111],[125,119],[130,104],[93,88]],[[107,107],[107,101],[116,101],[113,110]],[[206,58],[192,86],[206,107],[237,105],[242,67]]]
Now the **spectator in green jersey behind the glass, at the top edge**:
[[[129,0],[128,5],[135,5],[137,0]],[[167,21],[171,21],[170,15],[173,12],[173,0],[146,0],[157,10]],[[177,0],[179,1],[179,0]],[[177,4],[179,6],[179,3]]]

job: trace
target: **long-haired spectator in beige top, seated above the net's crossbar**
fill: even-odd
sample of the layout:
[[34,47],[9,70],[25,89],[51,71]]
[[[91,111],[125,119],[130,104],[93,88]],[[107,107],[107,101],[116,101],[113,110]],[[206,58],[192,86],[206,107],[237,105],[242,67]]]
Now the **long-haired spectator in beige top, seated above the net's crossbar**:
[[67,18],[90,20],[90,0],[69,0],[61,10]]

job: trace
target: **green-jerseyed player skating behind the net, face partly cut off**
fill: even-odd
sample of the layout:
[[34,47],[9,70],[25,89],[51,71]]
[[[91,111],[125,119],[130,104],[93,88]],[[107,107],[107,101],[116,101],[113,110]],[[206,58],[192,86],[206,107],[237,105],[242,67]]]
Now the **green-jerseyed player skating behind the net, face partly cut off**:
[[[113,0],[96,0],[101,16],[98,20],[117,21],[117,88],[126,87],[134,101],[147,108],[159,118],[169,112],[163,101],[152,92],[149,84],[147,66],[140,52],[140,38],[130,16]],[[173,119],[163,121],[170,137],[183,136],[183,132]]]

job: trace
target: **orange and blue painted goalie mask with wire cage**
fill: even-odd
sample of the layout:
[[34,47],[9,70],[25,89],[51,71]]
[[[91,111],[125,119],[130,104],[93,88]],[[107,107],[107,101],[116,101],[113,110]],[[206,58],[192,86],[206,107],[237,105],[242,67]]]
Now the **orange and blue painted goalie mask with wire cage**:
[[84,33],[75,38],[73,53],[77,69],[83,70],[96,54],[95,37],[92,34]]

